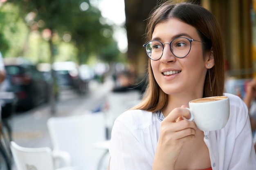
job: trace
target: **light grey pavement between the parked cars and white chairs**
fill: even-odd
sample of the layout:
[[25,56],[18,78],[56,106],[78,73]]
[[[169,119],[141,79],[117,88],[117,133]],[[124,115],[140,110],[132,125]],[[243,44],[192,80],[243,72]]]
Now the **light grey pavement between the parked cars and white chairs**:
[[[112,88],[112,82],[103,84],[92,82],[89,92],[78,95],[72,90],[64,90],[56,102],[56,113],[52,115],[50,105],[42,105],[35,109],[15,113],[10,120],[13,141],[24,147],[50,147],[52,142],[47,129],[47,120],[51,117],[71,116],[89,113],[97,109]],[[15,170],[15,166],[13,170]]]

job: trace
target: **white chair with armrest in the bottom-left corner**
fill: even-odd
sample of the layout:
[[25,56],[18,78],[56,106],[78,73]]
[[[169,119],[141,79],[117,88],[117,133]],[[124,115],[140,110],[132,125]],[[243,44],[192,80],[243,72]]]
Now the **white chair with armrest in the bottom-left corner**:
[[[10,148],[17,170],[57,170],[55,163],[60,159],[65,163],[63,168],[72,170],[70,155],[64,151],[52,152],[49,147],[27,148],[13,141]],[[58,170],[64,170],[63,168]]]

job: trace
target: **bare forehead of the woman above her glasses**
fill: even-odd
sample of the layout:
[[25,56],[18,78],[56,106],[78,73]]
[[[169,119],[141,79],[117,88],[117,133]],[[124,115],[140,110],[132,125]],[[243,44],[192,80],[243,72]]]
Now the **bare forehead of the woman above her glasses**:
[[199,35],[195,27],[186,24],[178,20],[177,18],[171,18],[166,22],[160,22],[156,24],[152,39],[174,39],[176,37],[189,37],[193,39],[199,39]]

